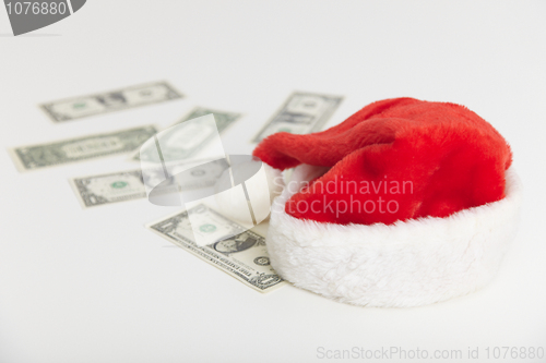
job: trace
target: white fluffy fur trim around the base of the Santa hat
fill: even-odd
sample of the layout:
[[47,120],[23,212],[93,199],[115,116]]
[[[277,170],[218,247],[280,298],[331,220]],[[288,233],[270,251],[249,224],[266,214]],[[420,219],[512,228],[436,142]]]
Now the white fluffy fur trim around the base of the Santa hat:
[[[304,165],[292,179],[323,172]],[[511,169],[506,179],[501,201],[390,226],[294,218],[284,207],[298,187],[285,187],[271,211],[271,264],[296,287],[356,305],[416,306],[466,294],[495,276],[515,235],[522,186]]]

